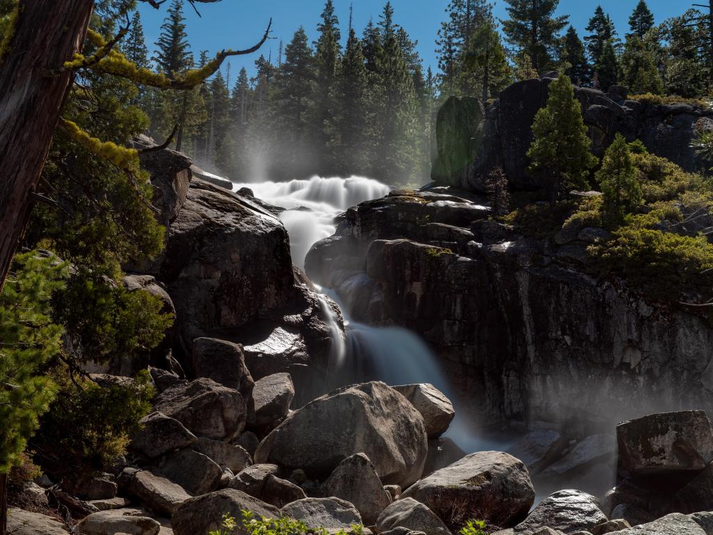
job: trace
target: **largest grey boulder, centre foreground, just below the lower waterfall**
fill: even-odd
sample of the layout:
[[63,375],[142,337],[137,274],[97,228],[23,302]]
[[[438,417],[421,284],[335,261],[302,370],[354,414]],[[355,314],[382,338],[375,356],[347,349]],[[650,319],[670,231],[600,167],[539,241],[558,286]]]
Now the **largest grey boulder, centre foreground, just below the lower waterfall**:
[[293,412],[262,441],[255,462],[304,469],[322,479],[362,452],[374,459],[384,484],[409,486],[424,469],[424,419],[383,382],[337,389]]

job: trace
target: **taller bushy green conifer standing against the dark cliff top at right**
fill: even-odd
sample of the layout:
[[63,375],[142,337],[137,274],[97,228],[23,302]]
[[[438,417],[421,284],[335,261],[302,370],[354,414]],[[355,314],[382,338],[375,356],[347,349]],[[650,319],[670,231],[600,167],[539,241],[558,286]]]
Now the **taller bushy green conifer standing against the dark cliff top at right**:
[[530,173],[551,180],[550,195],[563,188],[588,188],[590,169],[597,158],[590,153],[591,141],[582,118],[582,106],[564,73],[550,83],[547,106],[533,123],[533,143],[528,151]]

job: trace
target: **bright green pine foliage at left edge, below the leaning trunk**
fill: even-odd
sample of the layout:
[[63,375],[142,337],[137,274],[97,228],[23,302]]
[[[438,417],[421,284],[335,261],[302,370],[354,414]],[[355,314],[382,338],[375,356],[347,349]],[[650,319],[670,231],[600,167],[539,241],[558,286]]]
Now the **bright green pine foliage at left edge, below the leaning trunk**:
[[0,474],[21,462],[55,396],[43,368],[61,351],[63,330],[51,318],[51,295],[65,276],[57,258],[19,254],[0,295]]

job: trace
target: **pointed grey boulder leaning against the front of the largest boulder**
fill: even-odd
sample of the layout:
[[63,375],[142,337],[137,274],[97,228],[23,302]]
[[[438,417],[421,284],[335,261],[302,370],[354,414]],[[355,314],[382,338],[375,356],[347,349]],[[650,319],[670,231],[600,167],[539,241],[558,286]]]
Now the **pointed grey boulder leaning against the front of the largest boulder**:
[[391,504],[391,496],[384,490],[374,464],[363,453],[340,462],[322,484],[322,494],[354,504],[367,526],[376,523],[381,511]]

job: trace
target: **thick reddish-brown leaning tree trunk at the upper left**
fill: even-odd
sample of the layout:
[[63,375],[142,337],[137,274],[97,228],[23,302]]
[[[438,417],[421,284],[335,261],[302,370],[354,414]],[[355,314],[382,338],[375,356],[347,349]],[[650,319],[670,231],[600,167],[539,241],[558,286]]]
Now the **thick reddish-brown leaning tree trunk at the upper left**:
[[92,8],[93,0],[21,0],[0,58],[0,290],[73,78],[47,71],[80,51]]

